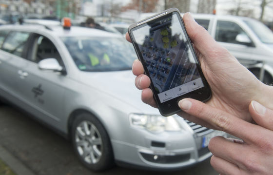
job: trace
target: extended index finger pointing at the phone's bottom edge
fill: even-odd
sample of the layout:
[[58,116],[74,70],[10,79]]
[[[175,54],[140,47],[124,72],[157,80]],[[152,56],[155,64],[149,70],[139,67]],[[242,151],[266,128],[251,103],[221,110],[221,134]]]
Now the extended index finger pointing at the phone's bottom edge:
[[178,105],[184,112],[210,123],[217,130],[241,138],[246,143],[254,143],[254,136],[257,133],[260,133],[259,136],[261,136],[262,130],[260,126],[249,123],[201,101],[184,98],[179,101]]

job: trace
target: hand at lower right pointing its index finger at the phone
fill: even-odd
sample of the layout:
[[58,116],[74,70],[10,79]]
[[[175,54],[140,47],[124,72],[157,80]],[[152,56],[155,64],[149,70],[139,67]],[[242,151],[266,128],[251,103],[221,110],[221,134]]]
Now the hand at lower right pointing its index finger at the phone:
[[211,139],[211,165],[221,175],[272,175],[273,110],[252,101],[249,112],[256,125],[190,98],[181,100],[179,106],[186,113],[211,123],[215,129],[243,140],[221,136]]

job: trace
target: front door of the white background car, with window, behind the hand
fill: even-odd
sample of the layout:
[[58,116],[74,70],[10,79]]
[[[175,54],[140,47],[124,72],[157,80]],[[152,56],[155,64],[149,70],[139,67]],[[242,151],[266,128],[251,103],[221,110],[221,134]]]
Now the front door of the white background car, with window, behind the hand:
[[[242,64],[253,56],[254,44],[248,34],[235,21],[217,20],[215,40],[227,48]],[[240,42],[240,38],[249,42]]]

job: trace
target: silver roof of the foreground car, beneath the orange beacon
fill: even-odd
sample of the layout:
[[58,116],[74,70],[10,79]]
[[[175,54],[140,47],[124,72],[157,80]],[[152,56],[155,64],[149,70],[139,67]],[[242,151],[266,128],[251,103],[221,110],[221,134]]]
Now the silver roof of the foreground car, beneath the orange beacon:
[[118,34],[106,32],[103,30],[71,26],[70,29],[64,29],[60,25],[39,25],[39,24],[27,24],[27,25],[1,25],[0,30],[17,30],[34,33],[48,33],[49,35],[55,35],[57,37],[120,37]]

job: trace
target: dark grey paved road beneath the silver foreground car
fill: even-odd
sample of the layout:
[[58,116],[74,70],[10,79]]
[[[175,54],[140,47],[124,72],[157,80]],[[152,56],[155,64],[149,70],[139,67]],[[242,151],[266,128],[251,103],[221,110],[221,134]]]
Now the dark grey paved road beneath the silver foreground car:
[[178,172],[147,172],[114,167],[93,173],[80,164],[72,145],[20,110],[0,106],[0,146],[16,157],[35,175],[218,175],[210,160]]

